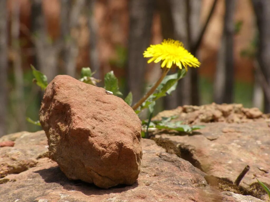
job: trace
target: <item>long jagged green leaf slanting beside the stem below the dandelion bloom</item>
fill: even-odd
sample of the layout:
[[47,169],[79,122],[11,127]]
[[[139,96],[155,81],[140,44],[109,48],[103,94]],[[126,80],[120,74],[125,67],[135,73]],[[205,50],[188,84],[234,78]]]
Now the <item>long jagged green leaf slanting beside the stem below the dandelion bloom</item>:
[[135,110],[136,114],[139,114],[142,110],[146,108],[149,108],[150,112],[153,112],[155,101],[160,97],[170,95],[171,92],[176,89],[178,81],[183,78],[186,73],[187,72],[185,71],[185,69],[180,69],[175,74],[165,76],[165,78],[157,87],[155,92],[150,95],[137,110]]

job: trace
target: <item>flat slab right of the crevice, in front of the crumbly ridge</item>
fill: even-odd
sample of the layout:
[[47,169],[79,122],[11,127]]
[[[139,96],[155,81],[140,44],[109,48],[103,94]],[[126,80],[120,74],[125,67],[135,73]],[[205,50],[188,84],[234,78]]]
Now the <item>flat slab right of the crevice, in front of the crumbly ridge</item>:
[[233,182],[245,166],[249,165],[251,169],[242,179],[240,187],[250,195],[266,200],[268,196],[264,195],[265,192],[260,189],[256,178],[270,184],[268,123],[258,120],[249,123],[202,124],[206,127],[200,130],[201,134],[180,136],[173,135],[172,132],[164,134],[163,131],[155,135],[156,141],[164,148],[170,145],[171,151],[176,151],[176,154],[208,175],[223,179],[224,183],[230,182],[225,187],[219,187],[221,190],[229,190],[228,186],[234,189]]

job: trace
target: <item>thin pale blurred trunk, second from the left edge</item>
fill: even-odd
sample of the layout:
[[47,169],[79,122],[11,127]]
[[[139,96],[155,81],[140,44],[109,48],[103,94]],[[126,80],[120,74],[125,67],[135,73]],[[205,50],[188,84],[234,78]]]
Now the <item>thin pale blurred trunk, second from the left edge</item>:
[[12,21],[11,21],[11,47],[14,54],[14,82],[15,82],[15,114],[18,122],[18,131],[26,130],[26,114],[24,100],[23,70],[21,67],[21,47],[19,41],[20,33],[20,7],[19,1],[12,2]]

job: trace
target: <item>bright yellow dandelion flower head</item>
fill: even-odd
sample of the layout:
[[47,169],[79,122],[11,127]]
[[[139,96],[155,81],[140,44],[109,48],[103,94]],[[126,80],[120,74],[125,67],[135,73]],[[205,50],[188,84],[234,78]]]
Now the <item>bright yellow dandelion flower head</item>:
[[183,43],[173,39],[164,39],[161,44],[150,45],[144,51],[143,56],[145,58],[152,57],[147,62],[160,62],[161,68],[171,68],[173,64],[182,69],[182,66],[187,70],[187,66],[199,67],[200,62],[191,53],[189,53],[183,46]]

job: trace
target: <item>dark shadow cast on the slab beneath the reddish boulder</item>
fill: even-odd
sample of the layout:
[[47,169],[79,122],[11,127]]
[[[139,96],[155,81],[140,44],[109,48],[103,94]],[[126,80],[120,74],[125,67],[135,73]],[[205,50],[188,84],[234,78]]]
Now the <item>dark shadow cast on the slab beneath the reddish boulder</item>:
[[109,189],[102,189],[100,187],[97,187],[95,184],[83,182],[82,180],[69,180],[60,170],[59,166],[37,170],[35,171],[35,173],[38,173],[46,183],[58,183],[63,186],[63,189],[66,189],[68,191],[81,191],[87,196],[121,193],[130,189],[134,189],[138,186],[138,182],[136,182],[131,186],[121,184],[111,187]]

